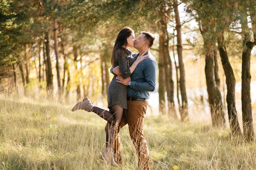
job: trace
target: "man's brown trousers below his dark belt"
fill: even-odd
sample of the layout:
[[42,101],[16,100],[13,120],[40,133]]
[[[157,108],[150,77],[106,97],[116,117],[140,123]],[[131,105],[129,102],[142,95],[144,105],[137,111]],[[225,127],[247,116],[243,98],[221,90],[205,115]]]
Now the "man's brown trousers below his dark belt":
[[[146,114],[148,102],[129,100],[127,101],[127,104],[128,110],[124,110],[119,127],[122,128],[126,124],[129,126],[130,137],[138,156],[138,170],[150,170],[148,144],[143,132],[144,116]],[[117,163],[122,162],[119,130],[117,130],[116,139],[113,145],[113,150],[115,152],[114,156]]]

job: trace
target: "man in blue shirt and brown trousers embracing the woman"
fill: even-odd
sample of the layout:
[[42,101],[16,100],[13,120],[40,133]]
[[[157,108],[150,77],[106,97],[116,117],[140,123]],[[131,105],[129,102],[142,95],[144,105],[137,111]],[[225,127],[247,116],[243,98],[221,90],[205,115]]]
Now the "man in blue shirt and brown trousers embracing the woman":
[[[135,71],[127,79],[121,77],[118,67],[114,67],[111,70],[112,73],[119,75],[117,76],[117,82],[128,86],[128,110],[124,110],[124,116],[119,124],[119,130],[128,124],[130,137],[137,151],[138,170],[150,170],[148,145],[143,129],[150,91],[154,91],[156,87],[157,62],[149,51],[154,42],[155,36],[145,31],[141,32],[138,38],[135,39],[134,48],[137,49],[139,53],[133,54],[133,57],[136,59],[144,52],[146,52],[144,55],[149,54],[149,56],[146,60],[143,60],[137,65]],[[121,142],[119,134],[117,134],[113,147],[115,161],[121,163]]]

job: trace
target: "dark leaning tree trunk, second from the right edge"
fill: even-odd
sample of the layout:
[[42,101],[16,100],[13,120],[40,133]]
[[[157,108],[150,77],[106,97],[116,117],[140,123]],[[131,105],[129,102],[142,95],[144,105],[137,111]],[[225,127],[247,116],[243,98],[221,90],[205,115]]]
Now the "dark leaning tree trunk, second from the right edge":
[[226,85],[227,85],[227,111],[229,116],[229,125],[231,129],[231,133],[233,135],[241,135],[241,130],[238,123],[238,116],[236,112],[236,79],[234,76],[233,69],[229,62],[229,58],[227,55],[226,47],[222,44],[223,42],[223,34],[222,37],[218,39],[218,49],[220,53],[220,58],[222,62],[222,67],[226,76]]

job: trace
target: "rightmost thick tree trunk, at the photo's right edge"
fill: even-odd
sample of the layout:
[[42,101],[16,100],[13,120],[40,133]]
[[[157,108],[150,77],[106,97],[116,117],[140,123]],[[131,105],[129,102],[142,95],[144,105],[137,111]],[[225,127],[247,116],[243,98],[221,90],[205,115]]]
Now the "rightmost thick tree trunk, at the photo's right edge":
[[[252,122],[252,100],[251,100],[251,53],[256,42],[256,16],[255,1],[238,1],[240,11],[240,23],[242,25],[243,53],[242,53],[242,112],[243,112],[243,134],[246,141],[254,140],[254,129]],[[248,11],[249,10],[249,11]],[[249,16],[248,16],[249,15]],[[250,17],[250,21],[248,20]],[[252,25],[249,28],[248,23]],[[253,32],[253,38],[251,36]]]

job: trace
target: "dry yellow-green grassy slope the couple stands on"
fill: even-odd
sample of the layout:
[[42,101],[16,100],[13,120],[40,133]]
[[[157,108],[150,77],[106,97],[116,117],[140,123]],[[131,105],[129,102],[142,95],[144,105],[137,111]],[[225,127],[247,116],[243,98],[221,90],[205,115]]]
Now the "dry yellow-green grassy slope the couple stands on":
[[[128,126],[121,129],[124,165],[99,159],[106,121],[72,106],[0,95],[0,170],[137,170]],[[152,170],[255,170],[256,145],[204,122],[181,124],[146,115]],[[174,168],[175,169],[175,168]]]

